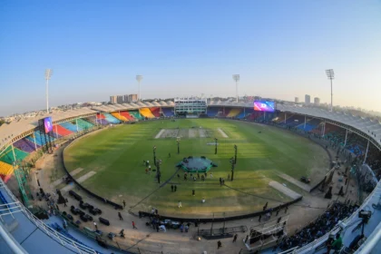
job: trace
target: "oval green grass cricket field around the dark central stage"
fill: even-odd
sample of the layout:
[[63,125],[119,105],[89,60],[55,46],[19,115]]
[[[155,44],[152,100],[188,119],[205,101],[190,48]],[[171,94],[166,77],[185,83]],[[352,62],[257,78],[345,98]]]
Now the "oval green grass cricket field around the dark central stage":
[[[177,154],[177,136],[181,137],[180,154]],[[217,155],[210,145],[214,138],[219,140]],[[228,181],[235,144],[238,163],[234,181]],[[161,183],[169,181],[161,188],[154,172],[145,173],[142,162],[152,163],[153,146],[157,147],[157,158],[162,160]],[[178,179],[175,165],[190,155],[203,155],[218,164],[210,170],[213,178],[208,174],[206,181],[183,181],[181,170]],[[297,180],[310,176],[313,185],[323,178],[327,158],[324,149],[294,133],[250,122],[217,119],[115,126],[88,134],[64,151],[68,171],[83,168],[75,175],[76,179],[90,171],[96,172],[82,183],[89,190],[119,203],[126,200],[127,207],[134,211],[155,207],[161,214],[192,217],[210,217],[212,213],[221,216],[224,212],[226,216],[243,214],[260,210],[269,199],[269,205],[291,200],[269,187],[269,181],[286,183],[289,189],[303,195],[303,190],[278,177],[278,173]],[[232,189],[220,187],[220,177]],[[171,184],[177,185],[176,192],[171,192]],[[195,196],[191,190],[196,191]],[[205,203],[201,203],[202,198]],[[181,209],[177,207],[179,200]]]

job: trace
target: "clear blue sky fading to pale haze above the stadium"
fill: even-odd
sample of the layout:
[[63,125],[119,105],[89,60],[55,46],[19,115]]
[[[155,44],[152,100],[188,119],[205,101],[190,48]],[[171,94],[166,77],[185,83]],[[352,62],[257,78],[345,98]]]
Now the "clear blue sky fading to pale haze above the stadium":
[[51,106],[239,95],[381,111],[381,1],[1,1],[0,116]]

